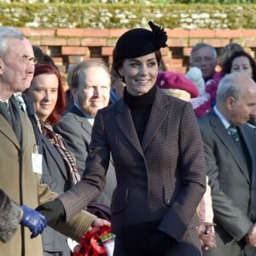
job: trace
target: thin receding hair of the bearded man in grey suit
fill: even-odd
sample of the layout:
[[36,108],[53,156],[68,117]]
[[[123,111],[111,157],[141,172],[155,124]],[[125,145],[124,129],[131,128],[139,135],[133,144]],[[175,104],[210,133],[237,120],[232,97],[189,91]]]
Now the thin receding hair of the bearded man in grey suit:
[[75,67],[73,67],[73,70],[71,71],[71,86],[70,86],[71,90],[79,88],[80,73],[82,73],[84,70],[86,70],[90,67],[102,67],[106,71],[106,73],[108,73],[109,80],[110,80],[110,73],[108,71],[108,67],[105,64],[105,62],[103,62],[103,61],[81,61],[78,64],[76,64]]

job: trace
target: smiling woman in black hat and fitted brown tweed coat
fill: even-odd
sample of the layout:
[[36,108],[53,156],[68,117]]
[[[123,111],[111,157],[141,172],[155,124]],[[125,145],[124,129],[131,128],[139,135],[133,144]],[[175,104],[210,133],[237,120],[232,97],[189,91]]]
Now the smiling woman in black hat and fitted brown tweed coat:
[[167,37],[149,26],[152,31],[132,29],[119,38],[113,67],[125,79],[124,97],[96,114],[84,177],[58,200],[66,218],[88,205],[104,187],[112,154],[113,254],[197,256],[196,207],[206,189],[203,143],[191,104],[155,86]]

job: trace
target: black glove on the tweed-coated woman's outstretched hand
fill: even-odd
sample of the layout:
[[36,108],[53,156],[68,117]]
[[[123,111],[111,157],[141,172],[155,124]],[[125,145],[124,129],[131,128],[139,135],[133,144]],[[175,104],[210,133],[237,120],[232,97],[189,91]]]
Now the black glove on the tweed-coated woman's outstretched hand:
[[58,199],[48,201],[37,207],[36,210],[45,216],[48,224],[58,223],[61,221],[61,218],[65,217],[65,209],[62,202]]

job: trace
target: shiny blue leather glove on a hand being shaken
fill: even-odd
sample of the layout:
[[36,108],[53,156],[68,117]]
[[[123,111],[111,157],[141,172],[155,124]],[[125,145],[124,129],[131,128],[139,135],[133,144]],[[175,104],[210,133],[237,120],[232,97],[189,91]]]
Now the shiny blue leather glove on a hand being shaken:
[[47,226],[46,218],[40,212],[29,208],[25,205],[21,206],[23,217],[20,221],[22,226],[26,226],[31,230],[31,238],[34,238],[41,234],[44,228]]

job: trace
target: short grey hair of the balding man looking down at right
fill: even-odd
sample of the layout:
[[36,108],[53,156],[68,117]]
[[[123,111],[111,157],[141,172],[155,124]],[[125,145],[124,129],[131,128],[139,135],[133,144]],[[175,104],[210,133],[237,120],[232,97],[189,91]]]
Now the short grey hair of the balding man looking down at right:
[[238,84],[238,76],[241,73],[229,73],[220,80],[217,89],[216,102],[223,103],[229,96],[233,96],[239,101],[242,86]]

